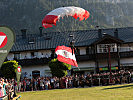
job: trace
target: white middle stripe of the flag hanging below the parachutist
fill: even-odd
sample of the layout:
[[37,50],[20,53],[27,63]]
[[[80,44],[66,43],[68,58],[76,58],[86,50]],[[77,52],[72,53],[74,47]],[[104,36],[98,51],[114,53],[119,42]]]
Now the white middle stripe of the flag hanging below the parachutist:
[[[68,57],[66,57],[66,56],[64,55],[64,51],[67,52]],[[66,50],[57,50],[55,53],[56,53],[57,55],[61,55],[61,56],[65,57],[65,58],[70,58],[70,59],[73,59],[73,60],[76,61],[75,54],[72,55],[72,53],[70,53],[70,52],[68,52],[68,51],[66,51]]]

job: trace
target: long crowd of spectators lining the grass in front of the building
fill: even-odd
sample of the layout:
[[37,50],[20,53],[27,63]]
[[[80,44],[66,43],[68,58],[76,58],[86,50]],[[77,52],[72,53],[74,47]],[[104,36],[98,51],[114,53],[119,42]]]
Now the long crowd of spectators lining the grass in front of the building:
[[24,78],[18,86],[18,91],[36,91],[62,88],[91,87],[98,85],[124,84],[133,82],[133,72],[121,70],[115,73],[100,73],[87,75],[72,75],[62,78],[38,77]]

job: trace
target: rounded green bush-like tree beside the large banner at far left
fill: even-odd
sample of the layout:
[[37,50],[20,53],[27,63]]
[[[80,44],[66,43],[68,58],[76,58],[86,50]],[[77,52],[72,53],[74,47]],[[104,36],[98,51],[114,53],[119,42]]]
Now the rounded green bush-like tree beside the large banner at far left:
[[17,66],[18,62],[16,62],[15,60],[6,61],[2,64],[0,72],[5,78],[15,78]]

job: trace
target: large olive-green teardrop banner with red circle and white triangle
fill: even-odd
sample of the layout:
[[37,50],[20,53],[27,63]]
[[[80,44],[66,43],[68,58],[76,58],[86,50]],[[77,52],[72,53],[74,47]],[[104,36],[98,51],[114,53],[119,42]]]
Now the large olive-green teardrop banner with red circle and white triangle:
[[14,32],[6,26],[0,26],[0,68],[15,41]]

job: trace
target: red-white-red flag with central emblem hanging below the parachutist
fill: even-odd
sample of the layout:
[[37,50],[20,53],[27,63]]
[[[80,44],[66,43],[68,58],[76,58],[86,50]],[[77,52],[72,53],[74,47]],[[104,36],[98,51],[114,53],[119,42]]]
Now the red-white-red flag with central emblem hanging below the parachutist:
[[73,66],[78,67],[76,62],[75,54],[72,54],[72,49],[66,46],[57,46],[55,49],[55,53],[57,54],[57,59],[60,62],[64,62]]

